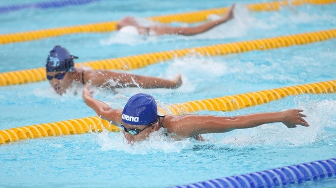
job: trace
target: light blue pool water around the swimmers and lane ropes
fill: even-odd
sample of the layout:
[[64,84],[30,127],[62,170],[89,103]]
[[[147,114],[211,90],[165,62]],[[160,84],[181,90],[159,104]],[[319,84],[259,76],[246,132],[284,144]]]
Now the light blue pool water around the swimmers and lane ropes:
[[[33,3],[39,1],[15,1]],[[26,9],[0,14],[0,33],[148,17],[229,6],[233,1],[100,1],[47,10]],[[120,32],[78,34],[0,45],[0,72],[43,67],[54,45],[80,57],[76,62],[205,46],[234,41],[313,32],[335,27],[336,5],[247,12],[240,1],[235,19],[193,36],[140,37]],[[263,1],[265,2],[265,1]],[[1,1],[1,5],[9,5]],[[176,25],[183,23],[173,23]],[[94,97],[122,108],[138,92],[161,105],[336,79],[335,39],[288,48],[217,57],[190,55],[130,73],[173,78],[178,89],[123,88],[95,90]],[[81,89],[77,89],[80,93]],[[83,134],[30,139],[0,146],[3,187],[166,187],[261,171],[336,156],[336,95],[291,96],[232,112],[198,114],[234,116],[300,108],[309,128],[287,129],[281,123],[249,130],[205,135],[208,141],[172,141],[156,132],[130,146],[121,133]],[[48,82],[0,87],[0,130],[94,116],[73,91],[57,96]],[[332,187],[335,179],[298,187]]]

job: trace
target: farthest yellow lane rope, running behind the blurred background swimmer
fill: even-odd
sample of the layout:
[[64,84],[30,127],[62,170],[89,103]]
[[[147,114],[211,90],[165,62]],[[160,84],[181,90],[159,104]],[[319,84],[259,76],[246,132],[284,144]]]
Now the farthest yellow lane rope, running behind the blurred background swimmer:
[[[323,5],[335,2],[336,0],[293,0],[293,1],[284,0],[276,2],[250,4],[246,5],[246,7],[251,11],[276,11],[279,10],[279,8],[281,8],[282,6],[288,6],[288,5],[292,6],[301,6],[304,4]],[[224,7],[224,8],[188,12],[188,13],[154,16],[149,17],[149,19],[153,21],[159,21],[162,23],[170,23],[173,21],[193,23],[193,22],[205,21],[210,14],[224,14],[225,12],[227,12],[227,10],[228,7]],[[107,22],[99,22],[83,25],[31,30],[27,32],[1,34],[0,45],[15,42],[32,41],[48,37],[58,37],[62,35],[79,34],[79,33],[111,32],[117,29],[117,24],[118,21],[107,21]]]

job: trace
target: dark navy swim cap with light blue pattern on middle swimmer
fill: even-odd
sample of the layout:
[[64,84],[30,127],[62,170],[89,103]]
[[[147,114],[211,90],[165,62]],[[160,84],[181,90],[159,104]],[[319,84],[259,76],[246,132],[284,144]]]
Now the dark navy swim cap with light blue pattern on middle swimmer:
[[47,72],[72,72],[75,69],[73,62],[74,58],[78,57],[70,55],[70,52],[66,48],[55,46],[49,52],[45,68]]

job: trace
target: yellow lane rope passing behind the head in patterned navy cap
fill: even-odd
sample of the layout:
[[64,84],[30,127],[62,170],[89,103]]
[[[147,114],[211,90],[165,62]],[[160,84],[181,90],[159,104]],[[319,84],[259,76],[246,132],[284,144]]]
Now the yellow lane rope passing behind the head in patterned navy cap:
[[[275,48],[283,48],[293,45],[305,45],[333,39],[336,37],[336,29],[321,30],[318,32],[287,35],[281,37],[273,37],[266,39],[257,39],[242,42],[225,43],[204,47],[194,47],[162,52],[147,53],[141,55],[133,55],[127,57],[102,59],[76,63],[76,67],[90,67],[93,70],[131,70],[143,68],[158,62],[172,60],[176,57],[183,57],[188,54],[199,55],[226,55],[231,53],[242,53],[253,50],[269,50]],[[0,86],[23,84],[46,80],[45,68],[12,71],[0,73]]]

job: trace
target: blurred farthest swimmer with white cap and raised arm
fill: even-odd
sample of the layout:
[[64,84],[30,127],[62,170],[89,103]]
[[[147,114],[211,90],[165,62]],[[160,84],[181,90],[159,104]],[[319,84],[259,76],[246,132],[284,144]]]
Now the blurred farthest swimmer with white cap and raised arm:
[[208,21],[198,26],[192,27],[174,27],[169,25],[153,25],[150,27],[139,25],[134,17],[125,17],[118,22],[117,29],[120,30],[126,26],[133,26],[136,28],[138,34],[140,35],[148,35],[148,36],[158,36],[158,35],[184,35],[184,36],[192,36],[207,32],[211,28],[222,24],[233,18],[233,9],[235,4],[233,4],[225,15],[220,17],[217,20]]

